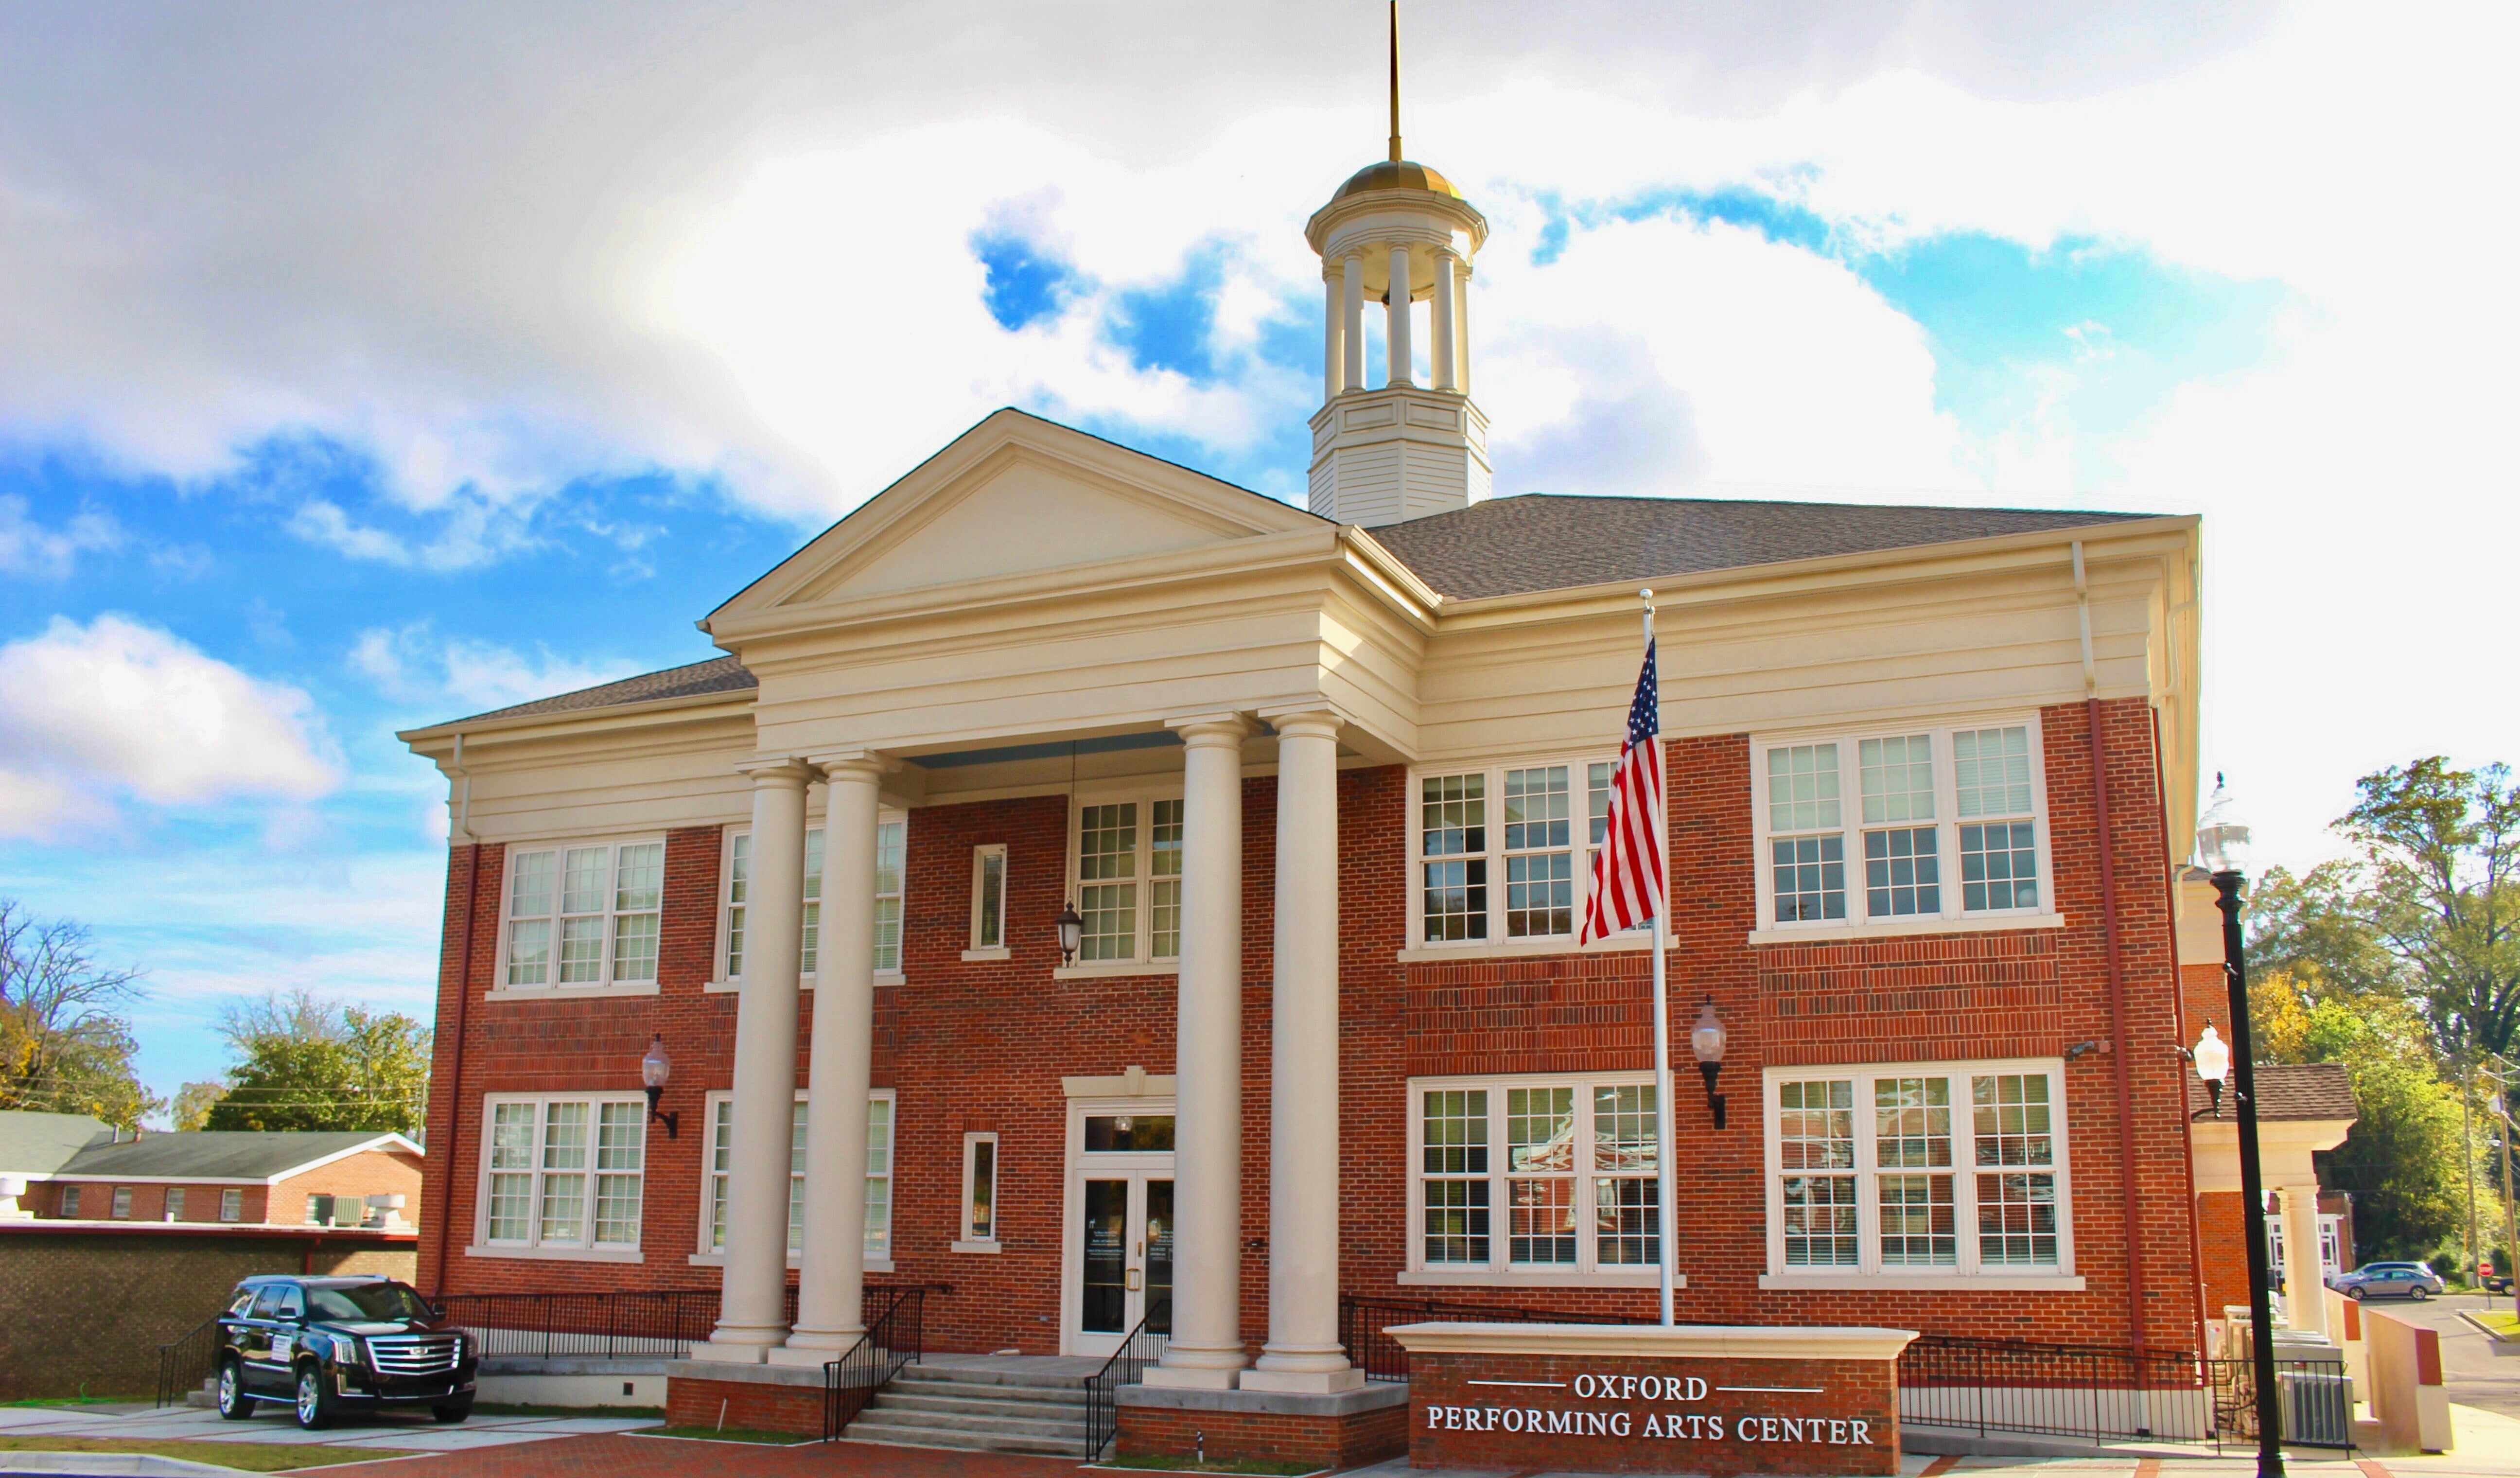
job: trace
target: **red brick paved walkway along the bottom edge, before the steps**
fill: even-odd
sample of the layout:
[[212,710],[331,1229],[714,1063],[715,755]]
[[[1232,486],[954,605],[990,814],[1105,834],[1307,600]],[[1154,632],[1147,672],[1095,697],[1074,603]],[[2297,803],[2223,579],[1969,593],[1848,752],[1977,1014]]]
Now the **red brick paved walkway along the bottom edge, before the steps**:
[[[360,1468],[375,1468],[363,1475]],[[343,1478],[1074,1478],[1071,1458],[1011,1458],[940,1448],[877,1448],[872,1443],[690,1443],[678,1438],[554,1438],[514,1448],[479,1448],[393,1463],[323,1468]]]

